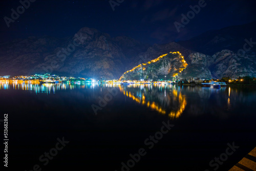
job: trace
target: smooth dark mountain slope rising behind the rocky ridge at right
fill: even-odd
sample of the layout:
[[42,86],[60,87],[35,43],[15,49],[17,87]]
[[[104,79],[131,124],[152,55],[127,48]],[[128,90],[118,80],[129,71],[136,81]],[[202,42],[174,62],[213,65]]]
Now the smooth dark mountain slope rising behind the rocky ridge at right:
[[[256,41],[256,21],[240,25],[212,30],[186,41],[180,41],[179,44],[187,49],[201,52],[206,55],[214,55],[224,49],[238,52],[246,44],[245,39]],[[255,46],[255,44],[254,44]],[[256,48],[251,48],[256,52]]]

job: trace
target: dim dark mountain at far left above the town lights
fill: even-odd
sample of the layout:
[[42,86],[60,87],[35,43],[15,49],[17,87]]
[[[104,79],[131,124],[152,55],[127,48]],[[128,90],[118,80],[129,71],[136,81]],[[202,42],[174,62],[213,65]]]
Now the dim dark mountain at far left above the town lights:
[[33,69],[44,62],[44,58],[65,40],[53,37],[29,37],[16,39],[0,45],[1,75],[30,74]]

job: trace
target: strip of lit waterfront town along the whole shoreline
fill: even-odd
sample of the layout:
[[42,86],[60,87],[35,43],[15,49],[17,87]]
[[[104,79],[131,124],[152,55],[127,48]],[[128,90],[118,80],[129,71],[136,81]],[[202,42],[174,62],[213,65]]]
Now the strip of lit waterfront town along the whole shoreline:
[[195,85],[207,85],[204,83],[214,83],[214,82],[223,82],[229,85],[249,85],[256,86],[256,78],[254,77],[239,77],[238,79],[230,79],[229,77],[224,77],[222,79],[201,79],[201,78],[190,78],[186,79],[172,79],[172,80],[152,80],[152,79],[140,79],[140,80],[100,80],[94,78],[82,78],[82,77],[66,77],[50,74],[35,74],[29,76],[0,76],[0,81],[17,81],[17,82],[34,82],[34,83],[59,83],[59,82],[71,82],[71,83],[121,83],[121,84],[133,84],[133,83],[160,83],[160,84],[182,84],[184,86],[195,86]]

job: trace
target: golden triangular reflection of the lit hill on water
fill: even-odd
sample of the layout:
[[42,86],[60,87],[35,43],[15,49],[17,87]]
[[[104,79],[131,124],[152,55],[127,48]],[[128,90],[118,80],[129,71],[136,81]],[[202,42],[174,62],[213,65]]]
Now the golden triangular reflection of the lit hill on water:
[[[138,89],[139,88],[139,89]],[[185,109],[186,97],[172,84],[132,84],[119,87],[124,96],[169,118],[178,118]],[[167,92],[167,93],[166,93]]]

